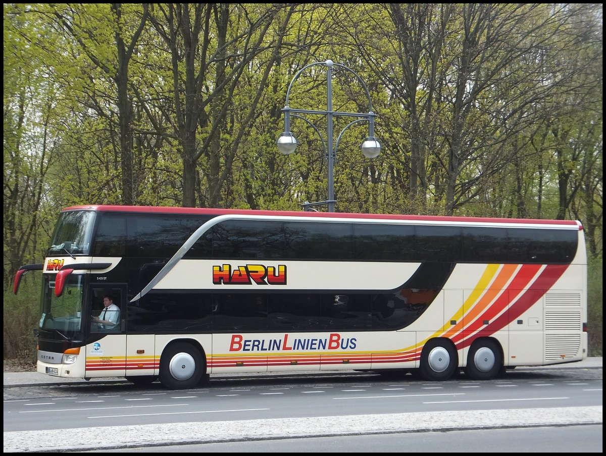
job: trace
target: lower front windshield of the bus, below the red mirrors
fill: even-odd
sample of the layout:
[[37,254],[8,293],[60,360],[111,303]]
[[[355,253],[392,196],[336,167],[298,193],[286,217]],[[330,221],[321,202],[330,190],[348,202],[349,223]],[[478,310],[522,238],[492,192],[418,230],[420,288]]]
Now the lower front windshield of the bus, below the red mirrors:
[[[42,312],[38,323],[41,332],[55,334],[59,340],[82,340],[82,290],[84,275],[70,274],[61,297],[55,296],[55,277],[45,276]],[[85,323],[88,320],[84,318]],[[50,336],[47,334],[47,336]]]

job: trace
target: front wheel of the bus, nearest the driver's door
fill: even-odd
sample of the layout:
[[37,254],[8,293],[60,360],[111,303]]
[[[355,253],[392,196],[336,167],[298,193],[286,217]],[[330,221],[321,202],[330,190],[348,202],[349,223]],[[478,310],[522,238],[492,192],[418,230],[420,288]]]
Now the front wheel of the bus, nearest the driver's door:
[[160,357],[160,381],[167,389],[195,387],[205,374],[204,358],[187,342],[171,344]]

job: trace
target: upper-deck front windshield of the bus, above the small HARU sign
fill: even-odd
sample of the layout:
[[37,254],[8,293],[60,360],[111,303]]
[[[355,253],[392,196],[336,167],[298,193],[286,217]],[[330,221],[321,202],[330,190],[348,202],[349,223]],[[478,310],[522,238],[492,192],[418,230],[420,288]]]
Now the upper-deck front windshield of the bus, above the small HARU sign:
[[95,213],[91,211],[64,212],[53,233],[47,255],[68,253],[88,255]]

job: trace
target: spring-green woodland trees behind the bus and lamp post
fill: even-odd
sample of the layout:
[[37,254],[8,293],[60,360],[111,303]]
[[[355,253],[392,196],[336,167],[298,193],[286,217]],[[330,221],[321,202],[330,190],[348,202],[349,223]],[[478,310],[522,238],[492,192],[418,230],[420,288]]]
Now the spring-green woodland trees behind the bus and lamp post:
[[[327,116],[305,115],[317,130],[291,118],[296,153],[275,139],[293,77],[327,59],[367,85],[384,147],[362,156],[364,123],[335,144],[336,210],[574,218],[601,258],[601,4],[146,5],[4,4],[14,327],[27,317],[22,292],[7,295],[15,269],[42,261],[62,207],[326,200]],[[324,65],[302,72],[290,107],[326,109],[326,76]],[[368,111],[353,73],[335,68],[332,89],[334,111]],[[351,120],[337,116],[335,141]]]

